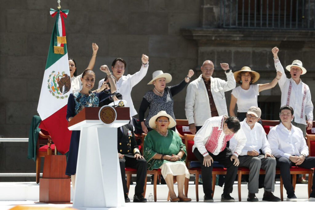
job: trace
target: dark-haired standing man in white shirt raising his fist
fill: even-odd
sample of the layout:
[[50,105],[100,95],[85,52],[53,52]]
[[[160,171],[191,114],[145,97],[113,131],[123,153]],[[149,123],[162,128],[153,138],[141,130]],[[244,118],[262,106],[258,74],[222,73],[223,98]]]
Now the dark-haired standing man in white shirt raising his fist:
[[[112,72],[113,76],[116,78],[116,87],[117,93],[120,93],[123,96],[123,100],[127,101],[127,107],[130,107],[130,117],[135,116],[137,111],[135,110],[134,104],[131,99],[131,90],[132,88],[140,82],[143,77],[146,76],[146,72],[149,67],[149,57],[145,54],[141,56],[142,66],[140,71],[134,73],[133,75],[128,74],[127,76],[123,75],[125,73],[125,68],[127,63],[122,58],[116,58],[112,62]],[[104,78],[105,79],[105,78]],[[100,80],[99,88],[102,86],[104,79]],[[131,121],[132,123],[132,121]]]

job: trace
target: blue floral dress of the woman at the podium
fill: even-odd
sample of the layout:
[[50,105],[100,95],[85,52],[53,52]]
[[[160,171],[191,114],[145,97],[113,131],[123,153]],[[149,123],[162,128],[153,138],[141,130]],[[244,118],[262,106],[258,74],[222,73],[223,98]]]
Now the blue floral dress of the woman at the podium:
[[[103,91],[100,93],[91,93],[89,95],[81,94],[80,92],[75,92],[69,95],[68,105],[67,105],[67,120],[69,117],[74,117],[83,110],[84,107],[98,107],[99,102],[107,99],[110,94],[106,94]],[[79,151],[80,142],[80,131],[72,131],[66,175],[74,175],[77,170],[77,156]]]

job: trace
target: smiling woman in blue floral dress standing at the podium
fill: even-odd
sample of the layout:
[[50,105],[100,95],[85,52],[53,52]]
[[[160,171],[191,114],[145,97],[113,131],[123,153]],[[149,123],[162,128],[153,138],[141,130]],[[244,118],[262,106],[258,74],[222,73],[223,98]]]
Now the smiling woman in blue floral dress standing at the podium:
[[[112,77],[108,67],[103,65],[100,70],[105,72],[109,78]],[[99,102],[110,97],[110,94],[101,92],[92,92],[91,89],[94,87],[95,73],[90,69],[86,69],[82,73],[81,77],[82,89],[80,92],[75,92],[69,95],[67,105],[67,120],[70,121],[74,116],[77,115],[84,107],[98,107]],[[103,87],[104,89],[105,87]],[[115,83],[111,84],[111,91],[116,91]],[[77,169],[77,156],[79,150],[80,131],[72,131],[69,154],[66,167],[66,175],[71,175],[72,187],[74,189]]]

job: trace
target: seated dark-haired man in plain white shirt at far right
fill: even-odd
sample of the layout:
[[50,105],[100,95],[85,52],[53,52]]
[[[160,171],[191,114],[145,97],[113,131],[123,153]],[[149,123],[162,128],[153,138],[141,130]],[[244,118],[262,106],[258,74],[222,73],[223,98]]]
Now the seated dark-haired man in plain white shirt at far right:
[[[315,157],[306,157],[308,156],[308,147],[301,129],[291,123],[293,116],[292,107],[287,105],[282,106],[280,108],[281,123],[273,127],[268,134],[270,148],[277,161],[276,167],[280,168],[283,185],[287,191],[287,201],[297,201],[294,188],[291,184],[290,167],[315,167]],[[315,201],[314,180],[309,201]]]

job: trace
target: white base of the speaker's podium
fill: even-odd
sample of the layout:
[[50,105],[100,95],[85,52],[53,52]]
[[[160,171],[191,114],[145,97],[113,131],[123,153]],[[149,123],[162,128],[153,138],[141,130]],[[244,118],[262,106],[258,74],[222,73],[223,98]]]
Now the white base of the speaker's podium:
[[108,209],[124,205],[117,128],[81,128],[73,207]]

